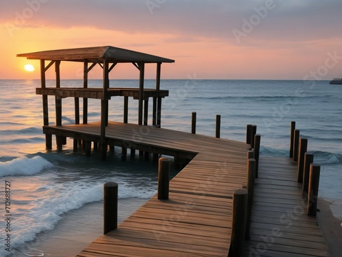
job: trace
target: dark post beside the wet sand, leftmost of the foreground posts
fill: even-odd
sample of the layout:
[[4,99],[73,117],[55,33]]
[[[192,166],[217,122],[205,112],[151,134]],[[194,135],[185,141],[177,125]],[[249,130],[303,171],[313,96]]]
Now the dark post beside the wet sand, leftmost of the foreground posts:
[[107,234],[118,228],[118,184],[105,183],[103,200],[103,234]]

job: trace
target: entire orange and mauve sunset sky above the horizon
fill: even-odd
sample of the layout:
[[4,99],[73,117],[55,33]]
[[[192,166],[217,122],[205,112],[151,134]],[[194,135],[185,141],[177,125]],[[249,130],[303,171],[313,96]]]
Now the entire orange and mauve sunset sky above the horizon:
[[[341,12],[341,0],[6,0],[0,79],[39,79],[38,61],[17,53],[111,45],[176,60],[163,79],[329,80],[342,77]],[[62,79],[80,78],[81,64],[61,68]],[[137,77],[131,64],[111,72]]]

